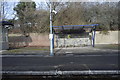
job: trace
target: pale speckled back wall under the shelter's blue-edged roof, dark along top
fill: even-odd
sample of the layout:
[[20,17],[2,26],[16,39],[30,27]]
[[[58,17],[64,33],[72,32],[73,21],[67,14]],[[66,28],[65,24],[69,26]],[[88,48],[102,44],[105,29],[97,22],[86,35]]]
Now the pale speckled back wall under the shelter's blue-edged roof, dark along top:
[[80,47],[91,46],[91,36],[89,33],[80,34],[56,34],[58,37],[56,40],[57,47]]

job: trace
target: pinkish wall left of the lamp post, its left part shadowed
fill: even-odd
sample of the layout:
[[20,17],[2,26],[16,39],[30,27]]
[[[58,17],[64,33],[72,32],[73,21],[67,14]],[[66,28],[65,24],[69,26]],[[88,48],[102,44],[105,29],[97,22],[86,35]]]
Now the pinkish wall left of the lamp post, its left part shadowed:
[[27,46],[49,46],[48,34],[31,33],[29,37],[22,35],[9,36],[9,46],[11,48],[27,47]]

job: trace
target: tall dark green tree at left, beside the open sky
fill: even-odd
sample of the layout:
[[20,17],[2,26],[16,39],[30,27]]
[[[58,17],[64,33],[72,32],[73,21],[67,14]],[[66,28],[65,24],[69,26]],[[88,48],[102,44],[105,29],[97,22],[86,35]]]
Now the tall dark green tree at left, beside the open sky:
[[32,31],[34,23],[34,11],[36,10],[35,2],[19,2],[14,8],[20,23],[20,29],[24,35]]

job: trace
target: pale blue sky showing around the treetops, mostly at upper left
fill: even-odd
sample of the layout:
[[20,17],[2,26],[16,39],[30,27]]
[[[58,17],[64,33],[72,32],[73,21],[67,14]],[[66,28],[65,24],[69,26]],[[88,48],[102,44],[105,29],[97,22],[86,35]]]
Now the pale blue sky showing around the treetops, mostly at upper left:
[[[1,0],[0,0],[1,1]],[[19,0],[4,0],[5,2],[7,2],[7,4],[5,5],[5,14],[7,19],[12,19],[16,14],[15,11],[13,10],[13,8],[18,4]],[[22,1],[30,1],[30,0],[22,0]],[[39,5],[41,4],[41,2],[45,2],[45,1],[49,1],[49,0],[33,0],[36,3],[36,7],[38,8]],[[52,1],[58,1],[58,0],[52,0]],[[60,0],[60,1],[70,1],[70,0]],[[71,2],[106,2],[106,1],[110,1],[110,2],[118,2],[119,0],[71,0]]]

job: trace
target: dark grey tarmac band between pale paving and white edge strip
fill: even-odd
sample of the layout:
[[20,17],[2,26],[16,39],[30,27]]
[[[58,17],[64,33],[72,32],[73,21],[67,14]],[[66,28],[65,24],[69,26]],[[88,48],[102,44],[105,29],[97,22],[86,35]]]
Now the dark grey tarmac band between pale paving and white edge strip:
[[118,70],[118,55],[2,57],[3,71]]

